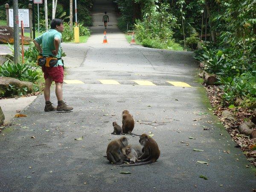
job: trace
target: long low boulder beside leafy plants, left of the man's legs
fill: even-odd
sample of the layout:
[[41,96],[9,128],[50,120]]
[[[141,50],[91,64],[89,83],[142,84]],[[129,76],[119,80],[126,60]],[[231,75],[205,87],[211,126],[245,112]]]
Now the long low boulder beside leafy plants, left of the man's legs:
[[27,88],[27,93],[32,93],[33,91],[33,84],[31,82],[27,81],[20,81],[15,78],[11,77],[0,77],[0,96],[5,95],[5,93],[8,91],[9,84],[14,85],[18,88]]

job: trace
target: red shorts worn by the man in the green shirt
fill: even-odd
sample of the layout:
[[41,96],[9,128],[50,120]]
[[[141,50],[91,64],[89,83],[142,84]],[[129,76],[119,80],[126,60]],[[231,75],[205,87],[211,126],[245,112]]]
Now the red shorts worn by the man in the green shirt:
[[52,81],[55,81],[55,83],[63,83],[63,66],[58,65],[58,67],[42,67],[42,71],[44,72],[44,79],[51,77]]

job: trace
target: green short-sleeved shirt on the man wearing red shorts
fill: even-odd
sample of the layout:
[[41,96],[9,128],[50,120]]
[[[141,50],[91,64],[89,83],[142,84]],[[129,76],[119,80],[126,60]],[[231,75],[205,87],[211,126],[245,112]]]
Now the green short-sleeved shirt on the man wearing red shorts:
[[[55,50],[54,38],[58,38],[61,42],[61,33],[58,32],[56,29],[49,29],[49,31],[35,38],[35,41],[38,44],[42,45],[43,56],[54,56],[52,54],[52,50]],[[59,45],[58,54],[55,57],[61,58],[61,44]],[[57,67],[58,65],[63,65],[61,59],[58,60],[58,63],[54,67]]]

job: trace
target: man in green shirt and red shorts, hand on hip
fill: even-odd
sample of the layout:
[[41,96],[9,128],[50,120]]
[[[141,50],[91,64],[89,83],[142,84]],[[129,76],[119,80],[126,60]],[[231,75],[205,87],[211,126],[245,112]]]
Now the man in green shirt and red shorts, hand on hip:
[[[41,36],[35,38],[34,44],[38,51],[46,57],[54,55],[57,58],[61,58],[61,32],[63,32],[64,26],[61,19],[53,19],[51,21],[51,29],[43,33]],[[42,47],[43,49],[42,49]],[[71,111],[73,107],[68,106],[62,97],[62,84],[64,79],[64,66],[62,60],[59,59],[58,63],[53,67],[42,67],[44,72],[44,99],[45,108],[44,111]],[[55,81],[55,94],[58,99],[57,108],[50,102],[50,87],[52,81]]]

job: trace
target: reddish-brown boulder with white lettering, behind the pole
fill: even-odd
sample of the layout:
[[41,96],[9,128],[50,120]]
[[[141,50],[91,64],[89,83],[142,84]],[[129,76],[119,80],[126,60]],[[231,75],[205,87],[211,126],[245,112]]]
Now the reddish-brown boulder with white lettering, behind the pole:
[[[0,26],[0,44],[13,44],[13,29],[9,26]],[[31,38],[24,36],[24,45],[30,44],[32,41]],[[21,44],[21,35],[20,35],[20,44]]]

